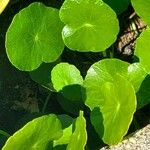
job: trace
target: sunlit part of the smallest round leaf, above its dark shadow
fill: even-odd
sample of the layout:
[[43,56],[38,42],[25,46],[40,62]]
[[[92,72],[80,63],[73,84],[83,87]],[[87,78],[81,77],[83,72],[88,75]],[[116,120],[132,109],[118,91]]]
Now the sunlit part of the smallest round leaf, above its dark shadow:
[[56,65],[51,72],[51,80],[55,90],[60,91],[65,86],[82,85],[83,78],[80,71],[68,63],[60,63]]

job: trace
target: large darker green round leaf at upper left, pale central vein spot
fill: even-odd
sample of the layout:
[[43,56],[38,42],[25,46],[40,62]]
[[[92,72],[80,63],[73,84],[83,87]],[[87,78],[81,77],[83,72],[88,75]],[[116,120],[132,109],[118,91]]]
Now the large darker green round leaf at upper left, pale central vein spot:
[[15,15],[6,34],[10,62],[20,70],[32,71],[42,62],[53,62],[62,53],[63,24],[57,9],[33,3]]

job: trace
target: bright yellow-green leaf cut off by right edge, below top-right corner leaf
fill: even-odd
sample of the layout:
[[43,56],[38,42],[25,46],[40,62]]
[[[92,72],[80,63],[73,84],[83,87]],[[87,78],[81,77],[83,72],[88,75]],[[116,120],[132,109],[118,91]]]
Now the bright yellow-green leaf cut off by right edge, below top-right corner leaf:
[[150,28],[146,29],[137,39],[135,54],[140,59],[140,64],[145,68],[147,73],[150,73]]

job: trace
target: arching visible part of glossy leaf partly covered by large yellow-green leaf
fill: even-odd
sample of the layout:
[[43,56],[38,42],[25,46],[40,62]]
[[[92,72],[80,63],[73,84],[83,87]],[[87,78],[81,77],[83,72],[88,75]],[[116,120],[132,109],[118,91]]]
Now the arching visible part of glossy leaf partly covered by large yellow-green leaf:
[[128,66],[128,63],[119,59],[104,59],[90,67],[84,81],[84,86],[88,94],[86,104],[91,109],[99,105],[100,93],[98,89],[100,86],[106,82],[115,82],[114,76],[116,74],[126,77]]

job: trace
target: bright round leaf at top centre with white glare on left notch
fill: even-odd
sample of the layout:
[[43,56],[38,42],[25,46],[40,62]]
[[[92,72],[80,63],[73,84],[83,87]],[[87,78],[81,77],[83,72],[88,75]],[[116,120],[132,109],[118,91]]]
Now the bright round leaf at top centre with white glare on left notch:
[[104,51],[119,31],[115,12],[101,0],[65,0],[60,19],[66,24],[63,40],[71,50]]

